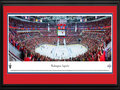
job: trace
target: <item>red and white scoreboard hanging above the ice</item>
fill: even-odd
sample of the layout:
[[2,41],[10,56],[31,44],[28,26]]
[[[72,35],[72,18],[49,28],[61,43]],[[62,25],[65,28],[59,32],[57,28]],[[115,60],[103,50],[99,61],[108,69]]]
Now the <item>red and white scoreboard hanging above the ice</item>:
[[58,24],[57,25],[57,35],[65,36],[66,24]]

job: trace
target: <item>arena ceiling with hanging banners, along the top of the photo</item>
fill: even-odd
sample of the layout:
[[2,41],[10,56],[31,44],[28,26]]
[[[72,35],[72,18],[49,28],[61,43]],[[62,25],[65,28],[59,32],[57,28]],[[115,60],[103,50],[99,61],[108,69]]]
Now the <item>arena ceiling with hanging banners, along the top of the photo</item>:
[[37,23],[58,23],[58,22],[84,23],[101,20],[109,16],[11,16],[11,17],[23,21]]

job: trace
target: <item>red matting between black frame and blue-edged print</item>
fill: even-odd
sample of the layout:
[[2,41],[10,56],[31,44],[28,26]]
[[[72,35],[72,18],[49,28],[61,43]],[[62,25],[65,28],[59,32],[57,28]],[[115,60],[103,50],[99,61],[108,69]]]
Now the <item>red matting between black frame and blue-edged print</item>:
[[[8,74],[8,13],[112,13],[113,74]],[[117,7],[116,6],[3,6],[3,84],[117,84]]]

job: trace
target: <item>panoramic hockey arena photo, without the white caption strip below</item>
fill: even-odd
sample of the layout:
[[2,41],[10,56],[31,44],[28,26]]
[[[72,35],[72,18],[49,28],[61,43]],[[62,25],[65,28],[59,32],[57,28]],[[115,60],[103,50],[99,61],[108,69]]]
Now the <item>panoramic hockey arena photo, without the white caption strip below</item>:
[[111,61],[111,16],[9,16],[9,61]]

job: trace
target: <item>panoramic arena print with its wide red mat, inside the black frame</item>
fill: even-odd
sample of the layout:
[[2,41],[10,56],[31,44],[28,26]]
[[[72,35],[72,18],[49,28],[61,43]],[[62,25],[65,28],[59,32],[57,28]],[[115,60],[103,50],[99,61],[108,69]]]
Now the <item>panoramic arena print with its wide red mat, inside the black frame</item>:
[[4,4],[3,85],[117,86],[117,10]]

